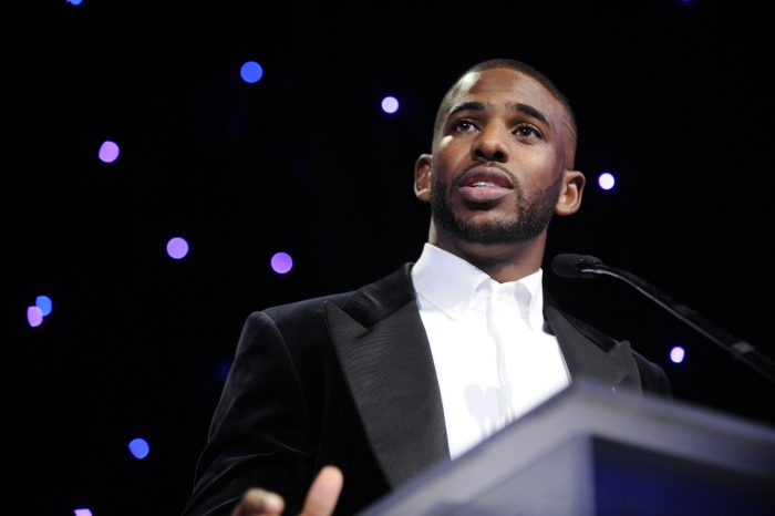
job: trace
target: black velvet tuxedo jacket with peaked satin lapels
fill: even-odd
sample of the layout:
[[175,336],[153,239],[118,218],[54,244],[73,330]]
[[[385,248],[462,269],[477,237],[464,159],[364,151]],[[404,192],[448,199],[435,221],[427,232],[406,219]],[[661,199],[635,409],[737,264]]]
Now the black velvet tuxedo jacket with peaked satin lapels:
[[[326,464],[344,475],[337,514],[354,514],[450,460],[411,267],[352,292],[248,317],[185,515],[228,515],[248,487],[281,494],[285,514],[299,514]],[[571,379],[670,395],[662,369],[628,342],[545,300]]]

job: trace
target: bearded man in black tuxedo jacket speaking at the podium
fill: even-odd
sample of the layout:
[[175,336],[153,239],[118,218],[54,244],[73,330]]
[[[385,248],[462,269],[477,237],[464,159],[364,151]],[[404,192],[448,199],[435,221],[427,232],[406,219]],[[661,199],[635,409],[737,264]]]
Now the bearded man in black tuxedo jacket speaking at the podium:
[[517,61],[473,66],[432,149],[415,166],[432,207],[416,264],[250,314],[186,515],[353,514],[579,376],[669,395],[658,365],[541,288],[549,221],[585,186],[552,83]]

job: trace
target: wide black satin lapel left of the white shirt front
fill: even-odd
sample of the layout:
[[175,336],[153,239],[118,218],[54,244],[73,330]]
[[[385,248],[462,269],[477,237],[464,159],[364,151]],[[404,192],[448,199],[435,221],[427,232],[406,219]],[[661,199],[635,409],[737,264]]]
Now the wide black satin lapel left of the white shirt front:
[[[409,268],[359,291],[341,309],[326,305],[331,341],[366,435],[393,486],[448,460],[444,410],[431,347],[409,290]],[[409,286],[409,288],[407,288]]]

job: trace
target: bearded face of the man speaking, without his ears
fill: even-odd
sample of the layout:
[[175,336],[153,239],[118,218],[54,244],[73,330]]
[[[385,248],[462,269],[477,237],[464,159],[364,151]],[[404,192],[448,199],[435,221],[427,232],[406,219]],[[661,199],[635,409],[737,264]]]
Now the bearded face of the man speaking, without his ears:
[[446,105],[431,173],[437,225],[475,244],[540,235],[562,188],[562,104],[528,75],[493,69],[466,75]]

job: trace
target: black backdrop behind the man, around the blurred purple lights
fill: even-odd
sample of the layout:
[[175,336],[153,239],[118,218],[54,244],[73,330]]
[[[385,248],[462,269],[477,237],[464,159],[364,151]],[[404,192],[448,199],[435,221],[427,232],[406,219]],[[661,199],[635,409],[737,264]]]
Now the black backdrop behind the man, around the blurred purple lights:
[[[414,161],[447,86],[495,56],[546,72],[580,126],[589,182],[581,211],[552,223],[555,297],[663,365],[676,399],[775,424],[772,383],[623,283],[548,264],[595,255],[775,357],[773,20],[753,6],[84,0],[9,14],[18,514],[178,514],[247,314],[416,259],[430,211]],[[265,70],[256,84],[239,78],[248,60]],[[396,114],[379,109],[386,94]],[[122,149],[110,165],[104,140]],[[173,236],[184,260],[165,254]],[[288,275],[269,268],[278,250]],[[39,295],[53,312],[30,328]],[[143,461],[126,448],[136,436]]]

